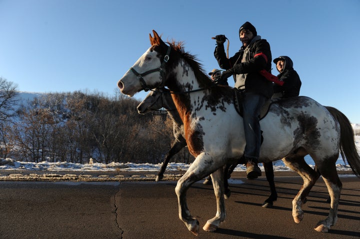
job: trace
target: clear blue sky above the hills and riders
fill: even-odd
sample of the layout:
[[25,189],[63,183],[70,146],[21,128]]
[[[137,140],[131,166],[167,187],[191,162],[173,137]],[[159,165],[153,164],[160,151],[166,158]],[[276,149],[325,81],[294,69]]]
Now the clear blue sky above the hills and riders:
[[360,123],[359,12],[359,0],[0,0],[0,77],[20,91],[113,95],[152,29],[183,41],[208,72],[218,68],[211,36],[225,34],[232,56],[250,21],[272,58],[293,60],[300,95]]

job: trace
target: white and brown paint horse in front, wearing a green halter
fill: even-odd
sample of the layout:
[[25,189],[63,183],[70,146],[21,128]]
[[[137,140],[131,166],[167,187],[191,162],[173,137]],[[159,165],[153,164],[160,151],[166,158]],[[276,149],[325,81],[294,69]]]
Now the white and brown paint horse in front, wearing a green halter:
[[[242,118],[233,106],[234,89],[212,87],[200,64],[194,56],[183,51],[180,43],[167,45],[155,31],[153,37],[150,35],[150,43],[151,47],[117,85],[130,97],[141,90],[159,86],[167,86],[174,93],[172,98],[184,124],[189,152],[196,157],[175,188],[179,218],[197,235],[199,223],[188,210],[186,191],[194,182],[211,174],[217,211],[203,230],[213,232],[226,217],[223,167],[241,158],[246,144]],[[331,197],[328,217],[320,221],[315,230],[327,232],[336,223],[342,187],[335,166],[339,152],[360,177],[360,156],[347,118],[334,119],[313,99],[294,97],[272,104],[260,126],[264,137],[260,162],[284,158],[285,164],[304,181],[292,201],[292,217],[296,223],[303,219],[303,200],[318,177],[305,163],[304,156],[309,154],[313,159]]]

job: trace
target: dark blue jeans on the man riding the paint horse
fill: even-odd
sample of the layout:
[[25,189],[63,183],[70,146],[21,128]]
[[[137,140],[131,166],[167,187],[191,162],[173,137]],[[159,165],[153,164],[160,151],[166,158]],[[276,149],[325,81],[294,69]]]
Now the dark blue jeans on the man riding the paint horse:
[[265,103],[266,97],[245,92],[242,101],[243,107],[243,126],[245,133],[246,146],[244,156],[254,159],[257,162],[260,156],[261,131],[260,131],[260,109]]

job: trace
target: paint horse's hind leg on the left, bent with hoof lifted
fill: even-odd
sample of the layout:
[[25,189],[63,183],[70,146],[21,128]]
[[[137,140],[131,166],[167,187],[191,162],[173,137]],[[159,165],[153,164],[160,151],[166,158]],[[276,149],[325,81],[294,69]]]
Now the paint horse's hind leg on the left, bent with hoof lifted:
[[301,222],[303,219],[303,211],[301,206],[306,200],[312,186],[315,184],[319,175],[305,162],[303,156],[291,156],[282,159],[284,164],[299,174],[303,180],[303,185],[295,198],[292,200],[292,218],[295,223]]

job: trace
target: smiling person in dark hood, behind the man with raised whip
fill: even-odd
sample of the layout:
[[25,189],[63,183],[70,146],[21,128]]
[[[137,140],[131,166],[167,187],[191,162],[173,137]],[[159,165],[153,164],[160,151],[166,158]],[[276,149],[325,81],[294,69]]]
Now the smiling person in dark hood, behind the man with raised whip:
[[278,79],[283,81],[283,85],[274,84],[274,98],[289,98],[298,96],[300,93],[301,80],[297,72],[293,69],[293,63],[288,56],[279,56],[273,60],[279,72]]

